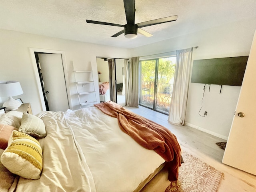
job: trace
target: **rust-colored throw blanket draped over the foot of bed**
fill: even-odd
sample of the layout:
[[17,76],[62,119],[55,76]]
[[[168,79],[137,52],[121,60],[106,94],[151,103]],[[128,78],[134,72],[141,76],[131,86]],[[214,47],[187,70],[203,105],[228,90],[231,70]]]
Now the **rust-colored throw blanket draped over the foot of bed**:
[[181,165],[180,145],[177,138],[164,126],[130,112],[109,101],[94,104],[103,113],[118,119],[120,129],[146,149],[154,150],[167,162],[170,181],[178,179]]

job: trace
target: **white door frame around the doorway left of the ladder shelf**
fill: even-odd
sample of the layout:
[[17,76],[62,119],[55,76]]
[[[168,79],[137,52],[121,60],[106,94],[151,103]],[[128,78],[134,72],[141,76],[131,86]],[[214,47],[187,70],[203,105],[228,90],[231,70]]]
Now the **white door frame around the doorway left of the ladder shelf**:
[[38,90],[40,100],[41,100],[41,110],[46,111],[46,106],[45,106],[45,102],[44,102],[44,93],[42,91],[41,81],[40,81],[40,77],[39,77],[39,73],[38,73],[35,52],[61,54],[64,76],[65,76],[65,84],[66,84],[67,95],[68,95],[68,104],[69,104],[69,107],[72,108],[71,93],[70,93],[70,87],[69,87],[70,84],[69,84],[69,80],[68,80],[68,68],[67,68],[67,64],[66,64],[65,52],[57,51],[57,50],[38,49],[38,48],[29,48],[29,50],[30,50],[30,57],[31,57],[31,61],[32,61],[32,68],[34,69],[34,75],[36,78],[37,90]]

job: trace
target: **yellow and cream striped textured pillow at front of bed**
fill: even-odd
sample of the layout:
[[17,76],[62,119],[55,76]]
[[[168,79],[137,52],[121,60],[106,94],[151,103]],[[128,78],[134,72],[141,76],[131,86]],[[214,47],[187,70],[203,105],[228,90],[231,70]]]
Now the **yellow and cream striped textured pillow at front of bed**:
[[12,131],[2,164],[12,173],[27,179],[39,179],[43,168],[40,143],[28,134]]

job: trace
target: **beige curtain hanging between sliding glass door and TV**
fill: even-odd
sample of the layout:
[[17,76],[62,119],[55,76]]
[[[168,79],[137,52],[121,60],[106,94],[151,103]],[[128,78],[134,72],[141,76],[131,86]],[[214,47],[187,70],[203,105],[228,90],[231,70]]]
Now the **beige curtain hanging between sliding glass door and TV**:
[[193,48],[177,50],[174,86],[168,121],[184,125]]

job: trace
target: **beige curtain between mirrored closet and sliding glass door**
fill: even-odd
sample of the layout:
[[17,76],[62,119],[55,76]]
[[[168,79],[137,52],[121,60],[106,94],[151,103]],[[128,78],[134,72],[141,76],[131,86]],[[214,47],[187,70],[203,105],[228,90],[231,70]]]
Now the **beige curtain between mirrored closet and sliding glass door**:
[[139,57],[129,58],[126,106],[139,107]]

